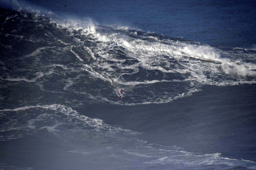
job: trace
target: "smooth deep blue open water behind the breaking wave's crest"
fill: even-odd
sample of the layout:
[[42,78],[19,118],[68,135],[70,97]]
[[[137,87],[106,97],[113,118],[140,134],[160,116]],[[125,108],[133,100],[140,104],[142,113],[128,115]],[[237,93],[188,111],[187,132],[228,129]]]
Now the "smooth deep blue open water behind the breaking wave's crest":
[[208,45],[254,48],[255,1],[28,1],[60,16],[91,19]]

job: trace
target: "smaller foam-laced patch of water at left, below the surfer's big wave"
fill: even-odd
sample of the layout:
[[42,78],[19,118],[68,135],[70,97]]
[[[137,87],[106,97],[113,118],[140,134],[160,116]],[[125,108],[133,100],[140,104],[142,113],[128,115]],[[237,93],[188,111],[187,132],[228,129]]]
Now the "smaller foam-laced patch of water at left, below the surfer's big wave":
[[[24,112],[29,110],[29,113]],[[12,115],[15,111],[17,114]],[[1,136],[1,141],[22,138],[23,133],[17,135],[8,135],[10,131],[24,130],[25,134],[34,134],[35,131],[47,129],[48,132],[61,137],[63,133],[86,132],[87,135],[97,131],[102,136],[115,136],[118,133],[139,134],[129,129],[122,129],[103,123],[100,119],[92,119],[87,116],[78,114],[75,110],[64,105],[35,105],[24,106],[14,109],[0,110],[1,117],[8,119],[7,122],[1,124],[1,132],[7,133]],[[87,131],[84,131],[87,129]],[[90,130],[89,130],[90,129]],[[71,136],[69,136],[71,138]]]

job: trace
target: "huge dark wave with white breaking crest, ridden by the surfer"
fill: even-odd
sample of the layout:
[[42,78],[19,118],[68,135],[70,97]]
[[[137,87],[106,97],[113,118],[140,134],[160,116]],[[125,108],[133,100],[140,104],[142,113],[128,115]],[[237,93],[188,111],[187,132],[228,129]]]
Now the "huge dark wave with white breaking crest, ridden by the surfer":
[[203,85],[255,84],[253,50],[47,17],[35,10],[4,11],[0,79],[10,86],[25,82],[43,91],[79,94],[86,103],[111,104],[123,104],[115,91],[125,88],[125,104],[135,105],[170,102]]

